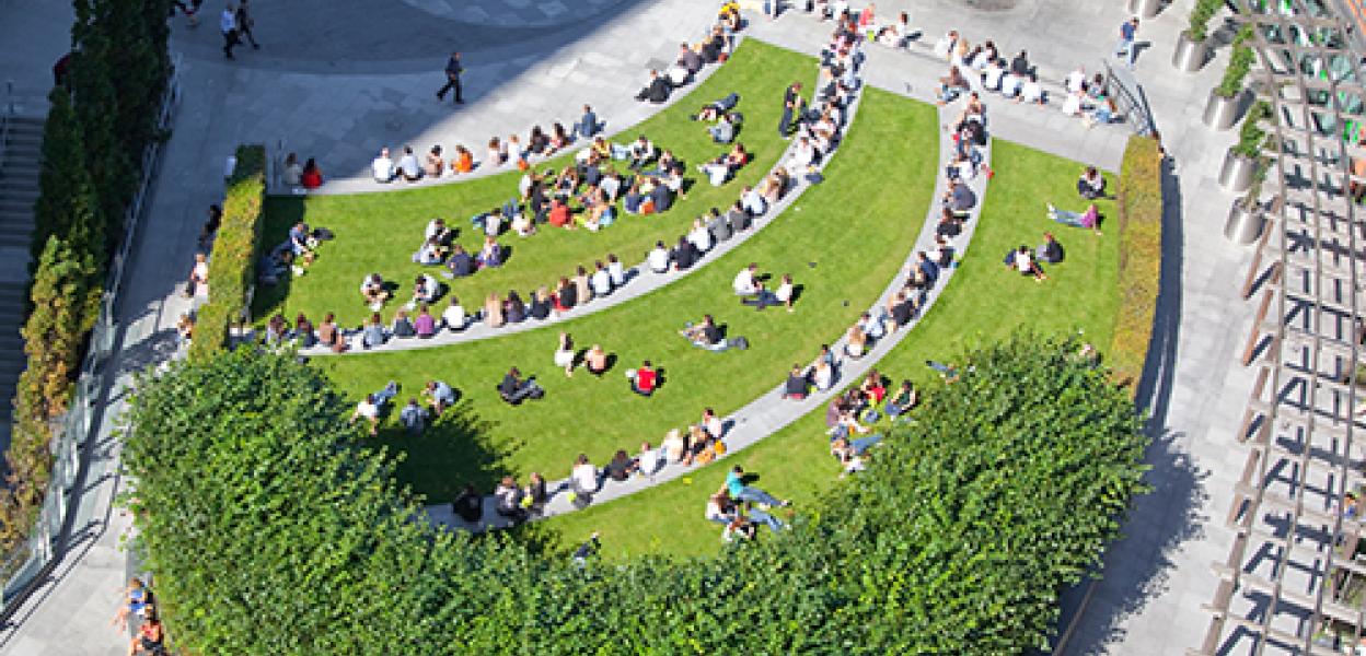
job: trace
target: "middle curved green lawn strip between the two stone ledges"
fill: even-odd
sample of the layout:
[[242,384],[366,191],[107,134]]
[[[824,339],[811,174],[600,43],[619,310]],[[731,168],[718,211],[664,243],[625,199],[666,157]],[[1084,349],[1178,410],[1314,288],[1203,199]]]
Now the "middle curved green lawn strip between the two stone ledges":
[[[391,420],[377,441],[404,453],[398,476],[428,496],[449,501],[464,481],[488,490],[504,472],[568,473],[586,453],[605,464],[616,449],[658,443],[673,427],[697,421],[705,406],[725,415],[780,383],[794,361],[810,361],[872,304],[896,274],[930,202],[937,135],[933,108],[870,91],[826,181],[806,192],[750,241],[688,278],[632,303],[560,326],[496,340],[408,352],[316,359],[354,397],[396,379],[399,402],[428,378],[456,386],[467,405],[458,417],[410,438]],[[896,172],[869,175],[869,172]],[[914,218],[908,218],[914,217]],[[802,288],[796,311],[755,312],[731,292],[749,262]],[[749,351],[712,353],[676,334],[686,320],[716,315]],[[572,379],[552,366],[559,330],[579,349],[601,344],[617,364],[602,379]],[[632,394],[623,372],[653,360],[664,386],[653,398]],[[510,366],[534,374],[546,398],[512,408],[493,387]]]

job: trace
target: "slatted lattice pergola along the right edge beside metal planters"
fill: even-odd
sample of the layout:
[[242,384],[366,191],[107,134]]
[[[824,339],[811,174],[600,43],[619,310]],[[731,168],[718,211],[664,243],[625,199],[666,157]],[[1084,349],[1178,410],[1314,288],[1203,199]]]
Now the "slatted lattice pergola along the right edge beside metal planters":
[[1238,4],[1255,26],[1257,95],[1273,106],[1270,199],[1242,289],[1261,299],[1242,355],[1257,376],[1238,427],[1249,449],[1225,520],[1235,539],[1213,563],[1213,616],[1188,653],[1356,653],[1366,556],[1361,513],[1348,517],[1344,495],[1366,462],[1366,224],[1352,198],[1366,185],[1352,175],[1366,161],[1366,12],[1362,0]]

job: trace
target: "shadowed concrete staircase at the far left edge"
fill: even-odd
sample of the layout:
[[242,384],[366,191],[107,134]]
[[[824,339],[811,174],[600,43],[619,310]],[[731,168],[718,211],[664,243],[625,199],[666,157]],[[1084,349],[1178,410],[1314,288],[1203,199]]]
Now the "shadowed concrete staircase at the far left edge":
[[44,119],[10,116],[5,120],[8,131],[0,145],[0,449],[10,446],[11,400],[25,367],[19,327],[29,281]]

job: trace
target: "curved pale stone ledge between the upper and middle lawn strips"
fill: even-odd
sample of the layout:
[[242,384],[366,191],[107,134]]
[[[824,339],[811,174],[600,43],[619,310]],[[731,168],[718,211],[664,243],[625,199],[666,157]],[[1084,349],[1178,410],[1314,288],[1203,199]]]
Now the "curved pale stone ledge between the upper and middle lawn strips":
[[[821,162],[817,166],[818,170],[824,172],[825,168],[829,166],[835,155],[839,154],[840,150],[843,150],[841,145],[844,143],[844,139],[848,138],[850,131],[854,128],[854,120],[858,117],[858,108],[862,104],[862,100],[863,100],[863,93],[862,90],[859,90],[859,93],[854,94],[854,101],[850,104],[848,116],[846,116],[844,119],[844,127],[841,131],[840,142],[826,157],[821,158]],[[777,161],[773,164],[773,168],[770,168],[768,173],[765,173],[765,176],[768,176],[775,170],[781,169],[783,165],[787,162],[788,155],[792,153],[795,147],[796,147],[796,138],[794,136],[791,143],[788,143],[787,150],[784,150],[783,154],[779,155]],[[809,190],[813,185],[805,177],[792,177],[791,180],[792,185],[788,188],[787,194],[784,194],[783,198],[779,199],[779,202],[769,206],[768,211],[765,211],[762,215],[754,217],[753,225],[750,226],[749,232],[743,235],[732,235],[731,239],[713,244],[712,250],[703,254],[702,259],[697,265],[693,265],[693,267],[690,267],[688,270],[654,273],[650,270],[649,266],[646,266],[645,262],[641,262],[626,270],[626,282],[622,286],[613,289],[611,295],[608,295],[607,297],[594,297],[591,301],[587,303],[587,305],[578,305],[570,312],[550,314],[545,319],[534,319],[527,316],[520,323],[505,323],[503,325],[503,327],[489,327],[484,322],[475,322],[471,323],[470,327],[466,327],[464,330],[460,331],[441,330],[440,333],[436,334],[436,337],[430,337],[426,340],[419,340],[417,337],[389,338],[389,341],[385,342],[382,346],[376,346],[370,349],[363,349],[361,346],[361,336],[355,334],[351,337],[350,340],[351,348],[346,353],[335,353],[332,352],[332,349],[322,345],[313,346],[310,349],[299,349],[299,353],[310,357],[316,356],[346,357],[346,356],[363,356],[370,353],[387,353],[393,351],[440,348],[455,344],[474,342],[479,340],[492,340],[516,333],[526,333],[529,330],[555,326],[557,323],[589,316],[591,314],[601,312],[604,310],[611,310],[616,305],[620,305],[634,299],[639,299],[645,295],[649,295],[650,292],[663,289],[688,275],[701,271],[702,269],[706,269],[717,259],[721,259],[723,255],[731,252],[740,244],[749,241],[751,237],[762,232],[764,228],[768,228],[777,217],[783,215],[783,213],[787,211],[792,205],[795,205],[802,198],[802,194],[805,194],[806,190]]]

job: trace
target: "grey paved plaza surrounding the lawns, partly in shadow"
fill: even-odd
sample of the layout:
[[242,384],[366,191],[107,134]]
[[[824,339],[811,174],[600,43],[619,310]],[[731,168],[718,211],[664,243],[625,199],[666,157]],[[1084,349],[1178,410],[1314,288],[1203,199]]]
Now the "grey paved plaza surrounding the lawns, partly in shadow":
[[[1150,355],[1156,367],[1141,390],[1153,413],[1154,492],[1138,499],[1127,537],[1106,555],[1104,578],[1083,591],[1089,600],[1065,653],[1175,655],[1197,646],[1209,619],[1201,604],[1216,585],[1210,563],[1223,561],[1231,541],[1224,517],[1244,460],[1233,432],[1251,386],[1250,371],[1236,360],[1253,308],[1238,292],[1251,251],[1221,235],[1232,196],[1218,191],[1214,177],[1233,135],[1199,120],[1228,49],[1218,48],[1199,74],[1177,74],[1169,64],[1191,4],[1176,0],[1143,23],[1139,41],[1147,46],[1135,70],[1173,162]],[[365,177],[381,146],[475,146],[493,135],[525,134],[531,124],[572,121],[583,104],[616,131],[657,110],[631,97],[650,67],[671,63],[680,41],[702,34],[714,7],[703,0],[258,0],[262,48],[242,48],[235,61],[223,59],[213,20],[191,29],[178,16],[171,48],[180,61],[182,104],[126,274],[109,363],[116,375],[102,397],[100,435],[86,453],[74,547],[0,629],[0,653],[127,649],[109,623],[130,571],[120,537],[131,525],[111,509],[120,479],[109,430],[131,374],[172,351],[175,320],[187,310],[178,285],[204,210],[221,198],[224,160],[236,145],[283,145],[317,157],[328,177],[342,181]],[[973,42],[996,40],[1003,52],[1024,48],[1041,78],[1053,83],[1076,65],[1098,70],[1128,18],[1120,0],[964,7],[952,0],[877,3],[884,16],[910,8],[922,40],[958,29]],[[205,8],[216,12],[221,4]],[[750,38],[802,52],[818,49],[829,31],[800,11],[776,22],[753,11],[749,16]],[[53,40],[66,38],[70,20],[63,1],[0,0],[0,48],[7,52],[0,75],[25,87],[46,85],[53,53],[64,48]],[[452,49],[463,53],[467,68],[464,105],[434,97]],[[869,50],[866,79],[893,93],[929,100],[943,74],[943,63],[919,52]],[[988,102],[993,138],[1119,168],[1124,128],[1086,130],[1056,106]]]

